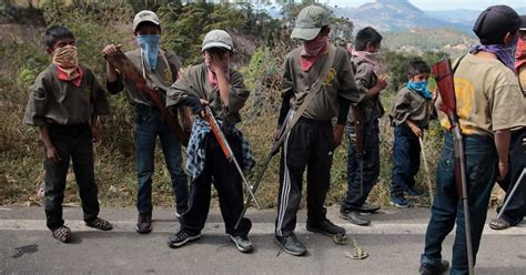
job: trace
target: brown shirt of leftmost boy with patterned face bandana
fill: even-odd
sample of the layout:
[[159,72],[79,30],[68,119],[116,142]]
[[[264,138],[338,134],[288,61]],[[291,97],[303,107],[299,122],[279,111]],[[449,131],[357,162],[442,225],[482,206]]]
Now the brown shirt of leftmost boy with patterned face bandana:
[[59,80],[54,65],[42,71],[34,80],[23,123],[77,125],[89,123],[93,114],[109,114],[104,90],[89,68],[81,68],[84,75],[80,86]]

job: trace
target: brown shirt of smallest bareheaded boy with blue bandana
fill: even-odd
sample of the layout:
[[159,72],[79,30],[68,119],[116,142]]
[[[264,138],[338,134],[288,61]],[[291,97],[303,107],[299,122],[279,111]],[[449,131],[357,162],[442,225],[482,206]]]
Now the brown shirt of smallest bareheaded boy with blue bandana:
[[418,92],[402,88],[396,94],[395,102],[391,108],[390,120],[393,126],[399,126],[407,120],[421,129],[427,129],[429,118],[434,113],[433,101],[424,99]]

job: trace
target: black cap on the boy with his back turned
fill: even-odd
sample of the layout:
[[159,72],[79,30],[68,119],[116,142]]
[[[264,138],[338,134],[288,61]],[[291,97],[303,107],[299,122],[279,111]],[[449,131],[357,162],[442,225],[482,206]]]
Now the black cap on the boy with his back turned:
[[517,12],[504,4],[492,6],[477,18],[473,31],[482,44],[499,44],[508,32],[518,30],[520,17]]

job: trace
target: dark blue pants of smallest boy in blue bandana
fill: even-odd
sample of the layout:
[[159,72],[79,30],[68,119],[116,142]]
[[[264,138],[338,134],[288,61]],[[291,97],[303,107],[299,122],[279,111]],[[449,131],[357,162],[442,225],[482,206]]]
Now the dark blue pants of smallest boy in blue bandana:
[[415,186],[415,175],[421,167],[421,144],[407,125],[395,126],[394,136],[391,196],[398,196]]

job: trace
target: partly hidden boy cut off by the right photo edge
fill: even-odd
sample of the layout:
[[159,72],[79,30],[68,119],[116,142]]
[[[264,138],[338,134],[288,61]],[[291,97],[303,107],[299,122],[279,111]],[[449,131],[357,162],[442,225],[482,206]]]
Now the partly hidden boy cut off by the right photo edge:
[[[526,16],[520,16],[519,40],[515,54],[515,74],[523,92],[523,105],[526,110]],[[526,167],[526,128],[512,130],[509,143],[509,173],[498,184],[506,191],[507,206],[499,211],[497,218],[492,220],[492,230],[505,230],[519,224],[526,215],[526,175],[520,175]],[[516,187],[515,185],[518,184]],[[515,193],[512,194],[515,189]]]

